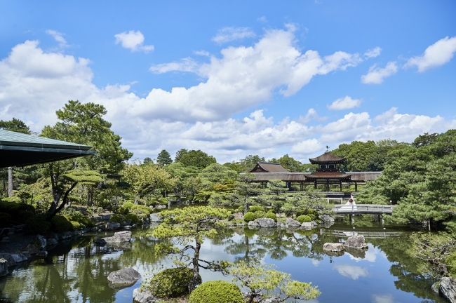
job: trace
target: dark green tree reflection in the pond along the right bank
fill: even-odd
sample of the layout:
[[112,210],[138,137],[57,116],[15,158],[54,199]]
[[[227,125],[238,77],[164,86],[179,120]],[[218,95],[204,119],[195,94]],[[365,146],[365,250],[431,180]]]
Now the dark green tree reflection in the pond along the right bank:
[[398,278],[394,285],[398,290],[412,292],[422,299],[431,299],[435,302],[445,302],[434,291],[431,285],[435,282],[429,275],[420,272],[422,260],[406,253],[412,245],[409,233],[402,233],[399,237],[372,238],[369,243],[380,248],[389,262],[393,262],[389,273]]

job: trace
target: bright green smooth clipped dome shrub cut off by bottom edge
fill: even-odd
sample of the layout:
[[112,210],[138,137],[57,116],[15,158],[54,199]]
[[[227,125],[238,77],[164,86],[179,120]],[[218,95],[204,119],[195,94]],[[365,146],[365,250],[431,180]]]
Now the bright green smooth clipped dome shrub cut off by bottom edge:
[[218,280],[199,285],[190,294],[189,303],[244,303],[244,299],[236,284]]

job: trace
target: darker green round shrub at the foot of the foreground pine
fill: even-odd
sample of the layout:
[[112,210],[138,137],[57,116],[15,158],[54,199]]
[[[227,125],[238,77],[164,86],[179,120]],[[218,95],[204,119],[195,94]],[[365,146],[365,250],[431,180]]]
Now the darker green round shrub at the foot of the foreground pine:
[[[146,287],[155,297],[180,297],[189,292],[189,283],[192,278],[192,269],[165,269],[156,274]],[[197,283],[201,283],[201,276]]]

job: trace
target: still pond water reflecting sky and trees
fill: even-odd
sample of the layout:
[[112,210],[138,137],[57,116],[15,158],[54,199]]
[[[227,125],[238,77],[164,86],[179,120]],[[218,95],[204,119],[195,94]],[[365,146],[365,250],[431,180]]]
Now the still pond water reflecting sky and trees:
[[[156,240],[148,236],[152,227],[133,230],[133,243],[117,248],[99,248],[95,238],[108,233],[80,236],[49,251],[0,279],[0,302],[133,302],[133,289],[109,288],[111,271],[133,267],[144,277],[153,269],[170,264],[154,256]],[[318,285],[321,296],[314,302],[445,302],[431,291],[431,284],[417,272],[419,260],[405,255],[410,230],[382,227],[379,222],[344,220],[311,231],[248,228],[233,229],[227,238],[203,243],[203,260],[236,262],[260,257],[267,264],[291,274],[298,281]],[[343,255],[323,252],[323,243],[347,240],[363,234],[369,249],[349,250]],[[231,278],[201,270],[203,281]]]

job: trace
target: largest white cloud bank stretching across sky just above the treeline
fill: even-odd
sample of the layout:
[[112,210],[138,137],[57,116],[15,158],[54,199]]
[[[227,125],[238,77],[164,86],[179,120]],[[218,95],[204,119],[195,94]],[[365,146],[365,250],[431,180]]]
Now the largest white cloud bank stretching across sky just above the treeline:
[[[290,33],[286,31],[273,34],[285,41],[293,40],[293,34],[288,36]],[[268,36],[268,39],[272,38]],[[273,40],[261,39],[259,43],[268,47],[277,46],[272,43]],[[222,163],[242,159],[248,154],[260,154],[270,159],[280,157],[286,151],[290,151],[290,156],[295,159],[307,162],[309,157],[321,154],[325,145],[337,147],[338,144],[353,140],[381,140],[387,137],[411,142],[425,132],[441,133],[456,128],[455,120],[400,113],[396,108],[373,119],[367,112],[363,112],[323,121],[314,109],[309,109],[297,121],[277,121],[261,109],[234,119],[234,110],[246,110],[250,105],[258,105],[261,100],[267,100],[258,95],[268,96],[272,89],[281,88],[281,83],[288,83],[280,77],[276,79],[274,73],[264,71],[276,70],[282,78],[288,76],[293,79],[295,74],[290,70],[294,71],[294,67],[306,60],[305,54],[286,43],[276,49],[282,55],[280,49],[292,54],[286,57],[292,61],[286,67],[270,66],[253,58],[254,54],[260,58],[276,58],[274,52],[264,50],[266,46],[224,49],[222,52],[226,52],[226,55],[222,58],[211,58],[211,62],[204,68],[199,67],[198,73],[206,73],[208,81],[194,88],[175,88],[177,91],[171,92],[154,88],[147,97],[140,97],[130,91],[130,85],[95,86],[90,60],[86,58],[45,52],[39,48],[38,41],[25,41],[14,46],[8,57],[0,61],[0,119],[21,119],[32,130],[39,132],[43,126],[55,123],[55,111],[62,108],[68,100],[96,102],[107,108],[106,119],[112,122],[113,130],[123,137],[123,146],[134,152],[135,156],[154,157],[161,149],[166,149],[171,154],[181,148],[202,149]],[[233,59],[236,58],[234,54],[243,54],[242,59],[257,63],[257,68],[263,72],[253,67],[248,69],[250,65],[244,67],[243,60]],[[326,64],[324,58],[318,58],[321,64],[317,65],[317,72]],[[283,62],[286,60],[283,59]],[[236,79],[236,75],[241,79]],[[250,85],[243,86],[243,81],[250,81]],[[218,85],[213,85],[212,82]],[[223,86],[222,90],[219,86]],[[233,92],[234,88],[239,88],[239,92]],[[236,106],[217,102],[220,97],[223,102],[234,102]],[[187,99],[182,101],[180,98]],[[175,104],[168,104],[172,102]],[[242,102],[248,104],[243,105]],[[177,112],[172,112],[175,107]],[[154,113],[153,109],[159,113]],[[217,114],[208,115],[207,120],[195,118],[211,113],[210,110]],[[308,126],[307,122],[311,120],[317,123]]]

